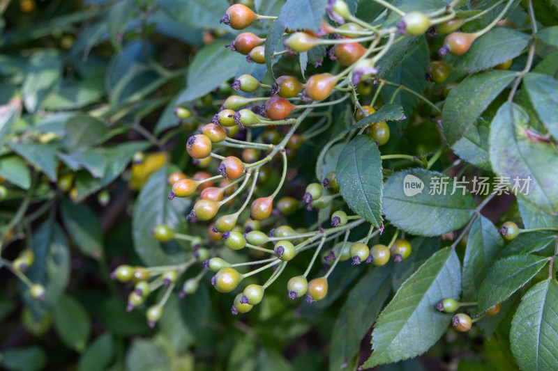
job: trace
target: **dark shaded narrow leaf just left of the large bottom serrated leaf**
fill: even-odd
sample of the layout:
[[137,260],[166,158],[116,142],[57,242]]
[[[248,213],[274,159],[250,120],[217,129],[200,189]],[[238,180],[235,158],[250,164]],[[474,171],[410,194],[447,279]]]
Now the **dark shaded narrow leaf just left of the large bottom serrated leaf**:
[[354,287],[333,326],[329,368],[340,370],[359,353],[361,339],[376,320],[391,292],[391,267],[369,270]]

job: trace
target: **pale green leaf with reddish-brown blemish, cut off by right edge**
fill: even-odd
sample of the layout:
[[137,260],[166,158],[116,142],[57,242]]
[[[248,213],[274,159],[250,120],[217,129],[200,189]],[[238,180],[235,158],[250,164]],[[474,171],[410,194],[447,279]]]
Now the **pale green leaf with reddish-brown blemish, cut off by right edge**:
[[[552,143],[531,141],[527,136],[529,116],[517,104],[506,102],[490,127],[490,162],[497,175],[509,177],[511,184],[531,179],[529,200],[547,214],[558,212],[558,149]],[[519,189],[520,190],[520,189]]]

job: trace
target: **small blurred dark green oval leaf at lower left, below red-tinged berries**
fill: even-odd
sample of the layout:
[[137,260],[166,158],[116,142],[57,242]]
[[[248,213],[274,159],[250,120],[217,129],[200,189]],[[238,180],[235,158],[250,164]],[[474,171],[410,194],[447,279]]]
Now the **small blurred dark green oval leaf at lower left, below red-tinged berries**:
[[54,328],[66,346],[83,352],[91,336],[91,319],[82,303],[65,295],[54,308]]

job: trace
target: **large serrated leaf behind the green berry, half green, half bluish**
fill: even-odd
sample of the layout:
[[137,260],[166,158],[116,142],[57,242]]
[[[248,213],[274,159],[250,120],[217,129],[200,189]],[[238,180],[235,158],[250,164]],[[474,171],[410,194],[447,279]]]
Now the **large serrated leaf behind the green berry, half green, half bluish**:
[[428,259],[384,308],[372,331],[372,356],[365,368],[393,363],[426,352],[447,329],[451,315],[434,310],[444,298],[458,298],[459,258],[451,247]]

